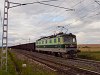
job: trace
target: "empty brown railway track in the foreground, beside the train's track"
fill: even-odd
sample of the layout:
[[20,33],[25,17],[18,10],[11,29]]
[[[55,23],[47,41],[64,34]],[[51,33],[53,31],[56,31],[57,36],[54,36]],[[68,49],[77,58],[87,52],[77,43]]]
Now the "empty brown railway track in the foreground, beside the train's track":
[[100,75],[98,71],[94,71],[94,70],[92,71],[92,70],[77,66],[75,63],[77,63],[78,59],[77,61],[65,60],[59,57],[54,57],[54,56],[41,54],[41,53],[35,53],[35,52],[28,52],[28,51],[23,51],[23,50],[21,51],[17,50],[16,52],[21,53],[25,55],[26,57],[31,58],[32,60],[45,64],[59,73],[64,73],[67,75]]

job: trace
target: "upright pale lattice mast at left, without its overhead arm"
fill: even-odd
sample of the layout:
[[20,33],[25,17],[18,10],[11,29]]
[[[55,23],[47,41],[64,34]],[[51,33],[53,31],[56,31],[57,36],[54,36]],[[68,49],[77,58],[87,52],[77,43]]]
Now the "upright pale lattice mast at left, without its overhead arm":
[[2,33],[2,51],[1,51],[1,69],[7,72],[7,50],[8,50],[8,9],[9,2],[4,3],[3,33]]

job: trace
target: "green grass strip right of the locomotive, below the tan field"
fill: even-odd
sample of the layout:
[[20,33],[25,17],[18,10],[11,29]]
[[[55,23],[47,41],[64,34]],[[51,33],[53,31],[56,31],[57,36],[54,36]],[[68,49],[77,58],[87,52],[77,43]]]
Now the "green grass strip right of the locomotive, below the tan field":
[[100,61],[100,51],[81,51],[78,57]]

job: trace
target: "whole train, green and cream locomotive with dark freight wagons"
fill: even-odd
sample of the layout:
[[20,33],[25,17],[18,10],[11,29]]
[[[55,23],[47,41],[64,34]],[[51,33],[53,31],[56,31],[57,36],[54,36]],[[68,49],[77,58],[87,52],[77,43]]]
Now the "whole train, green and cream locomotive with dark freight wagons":
[[79,50],[77,49],[76,35],[69,33],[58,33],[42,37],[34,43],[21,44],[11,48],[36,51],[65,58],[74,58]]

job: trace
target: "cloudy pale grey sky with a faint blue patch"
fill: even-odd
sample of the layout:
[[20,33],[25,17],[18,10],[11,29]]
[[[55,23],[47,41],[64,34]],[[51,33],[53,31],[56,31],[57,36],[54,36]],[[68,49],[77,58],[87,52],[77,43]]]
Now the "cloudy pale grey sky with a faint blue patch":
[[[9,1],[31,3],[47,0]],[[8,45],[35,42],[40,37],[59,32],[60,28],[57,26],[64,26],[66,30],[68,29],[66,33],[75,34],[78,44],[100,44],[100,5],[95,0],[52,0],[43,3],[74,9],[74,11],[39,3],[10,8]],[[0,0],[0,46],[3,8],[4,0]]]

